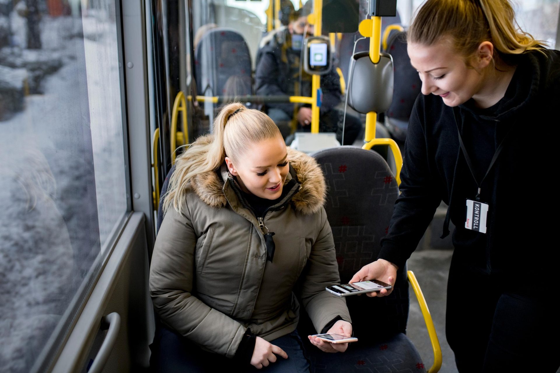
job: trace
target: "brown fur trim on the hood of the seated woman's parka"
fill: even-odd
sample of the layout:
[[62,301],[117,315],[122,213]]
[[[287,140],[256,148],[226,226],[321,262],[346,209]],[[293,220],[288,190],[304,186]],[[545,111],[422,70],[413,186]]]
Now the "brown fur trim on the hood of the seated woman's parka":
[[[213,135],[200,136],[194,144],[208,144],[213,140]],[[300,190],[292,196],[291,203],[296,211],[302,214],[317,213],[325,203],[326,185],[323,171],[316,160],[298,150],[287,148],[290,174],[286,183],[295,173],[296,182]],[[197,196],[209,206],[223,207],[227,203],[223,192],[225,181],[220,175],[220,170],[198,174],[190,182],[190,187]],[[284,185],[286,185],[284,183]]]

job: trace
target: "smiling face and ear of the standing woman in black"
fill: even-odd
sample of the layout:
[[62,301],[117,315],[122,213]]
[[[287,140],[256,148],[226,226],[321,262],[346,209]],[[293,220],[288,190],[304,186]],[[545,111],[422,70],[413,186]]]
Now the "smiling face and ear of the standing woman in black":
[[407,49],[410,63],[422,80],[423,95],[431,93],[440,96],[447,106],[458,106],[482,91],[482,69],[491,62],[491,54],[488,58],[484,48],[482,57],[477,54],[471,59],[470,67],[464,56],[455,53],[449,39],[430,46],[409,43]]

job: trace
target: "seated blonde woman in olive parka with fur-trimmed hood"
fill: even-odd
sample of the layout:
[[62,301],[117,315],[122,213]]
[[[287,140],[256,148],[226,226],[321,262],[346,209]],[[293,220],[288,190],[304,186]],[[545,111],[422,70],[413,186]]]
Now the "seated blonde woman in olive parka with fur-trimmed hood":
[[296,295],[318,332],[349,336],[346,301],[325,291],[339,276],[324,199],[318,164],[287,149],[267,115],[224,107],[214,134],[176,160],[165,196],[150,271],[162,322],[153,370],[309,371]]

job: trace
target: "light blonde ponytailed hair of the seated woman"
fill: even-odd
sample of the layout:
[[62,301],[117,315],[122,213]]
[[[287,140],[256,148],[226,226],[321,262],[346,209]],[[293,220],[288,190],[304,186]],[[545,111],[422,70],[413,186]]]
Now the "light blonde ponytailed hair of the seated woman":
[[173,206],[180,213],[186,190],[194,177],[216,171],[226,155],[237,160],[251,144],[276,136],[282,137],[276,124],[263,112],[248,109],[239,102],[226,105],[214,119],[212,141],[194,141],[175,160],[175,172],[169,180],[163,210]]

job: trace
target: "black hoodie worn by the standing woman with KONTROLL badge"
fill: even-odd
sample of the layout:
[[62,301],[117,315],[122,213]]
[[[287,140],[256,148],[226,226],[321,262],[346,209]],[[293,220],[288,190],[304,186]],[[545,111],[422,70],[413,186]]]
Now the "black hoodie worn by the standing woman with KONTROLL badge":
[[[549,188],[557,173],[553,152],[558,139],[560,52],[531,51],[516,56],[515,64],[505,96],[486,109],[476,108],[472,99],[452,108],[438,96],[418,96],[404,150],[402,193],[389,233],[381,240],[379,258],[403,267],[443,200],[457,227],[454,256],[461,262],[507,277],[549,275],[552,271],[546,268],[557,266],[553,227],[558,204],[556,190]],[[480,200],[489,204],[487,234],[464,228],[466,199],[474,200],[477,184],[460,151],[458,125],[479,181],[507,135],[481,185]]]

